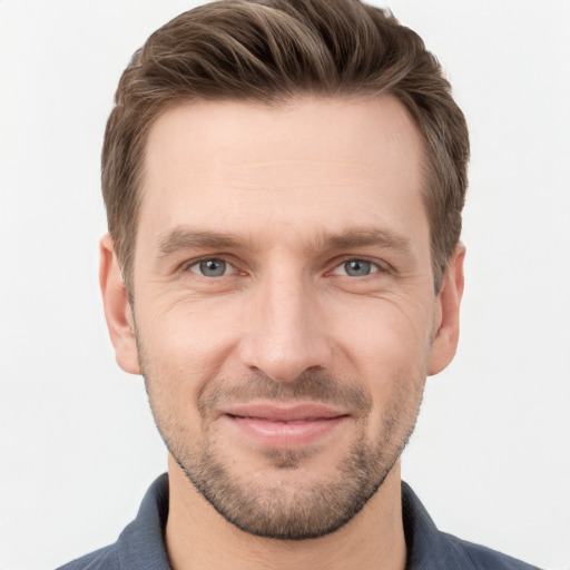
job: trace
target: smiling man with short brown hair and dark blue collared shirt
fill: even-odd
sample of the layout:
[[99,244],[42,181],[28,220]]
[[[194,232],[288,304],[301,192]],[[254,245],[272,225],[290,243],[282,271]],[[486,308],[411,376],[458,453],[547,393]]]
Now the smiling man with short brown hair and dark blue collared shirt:
[[456,348],[468,155],[436,60],[356,0],[149,38],[107,126],[100,283],[168,475],[62,568],[531,568],[440,533],[400,478]]

